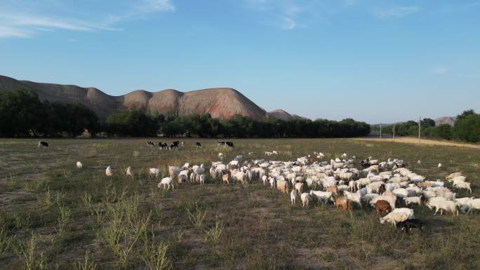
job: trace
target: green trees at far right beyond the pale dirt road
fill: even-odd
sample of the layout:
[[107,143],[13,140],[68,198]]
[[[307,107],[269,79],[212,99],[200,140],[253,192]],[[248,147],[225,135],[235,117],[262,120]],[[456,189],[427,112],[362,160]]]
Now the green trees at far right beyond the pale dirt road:
[[[373,132],[379,132],[380,126],[372,126]],[[382,135],[392,135],[393,125],[382,126]],[[395,125],[395,135],[418,136],[418,122],[406,121]],[[454,126],[446,123],[435,125],[432,119],[420,121],[420,135],[432,139],[461,140],[464,142],[480,142],[480,114],[469,109],[459,114]]]

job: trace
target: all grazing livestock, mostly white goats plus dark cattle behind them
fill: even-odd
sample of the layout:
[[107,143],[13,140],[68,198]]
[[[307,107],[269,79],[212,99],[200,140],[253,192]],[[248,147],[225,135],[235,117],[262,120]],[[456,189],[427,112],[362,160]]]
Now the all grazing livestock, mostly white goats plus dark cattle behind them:
[[[173,142],[170,147],[159,143],[159,148],[165,145],[168,149],[178,148],[183,143]],[[39,143],[40,145],[40,143]],[[153,142],[147,145],[154,146]],[[218,145],[233,147],[232,142],[218,142]],[[201,147],[199,142],[196,147]],[[248,153],[249,155],[252,153]],[[266,151],[265,156],[276,156],[277,151]],[[159,188],[173,189],[174,182],[178,184],[199,183],[204,185],[207,175],[212,180],[222,180],[224,184],[249,184],[255,181],[265,186],[277,189],[284,194],[290,194],[291,203],[295,205],[300,198],[302,207],[308,207],[313,201],[318,203],[333,203],[336,208],[351,210],[352,204],[363,208],[371,205],[380,215],[380,223],[391,223],[406,232],[411,228],[422,229],[422,221],[415,218],[409,205],[425,204],[434,215],[440,212],[468,213],[480,209],[480,198],[456,198],[456,193],[446,187],[451,183],[453,189],[467,189],[472,193],[471,184],[466,182],[462,173],[451,173],[445,181],[426,180],[425,176],[413,173],[406,168],[403,160],[388,158],[379,161],[368,157],[359,162],[361,169],[355,168],[355,156],[344,153],[341,157],[324,161],[324,154],[314,152],[313,155],[302,156],[296,161],[272,161],[265,159],[245,160],[243,155],[224,163],[224,155],[218,154],[220,161],[212,162],[207,171],[204,164],[182,167],[168,166],[168,177],[163,178]],[[420,161],[418,161],[420,164]],[[80,161],[76,163],[81,168]],[[438,165],[441,170],[441,163]],[[131,167],[126,168],[126,175],[133,176]],[[149,175],[159,177],[159,168],[149,168]],[[105,170],[107,176],[112,176],[112,167]],[[396,208],[397,205],[404,207]]]

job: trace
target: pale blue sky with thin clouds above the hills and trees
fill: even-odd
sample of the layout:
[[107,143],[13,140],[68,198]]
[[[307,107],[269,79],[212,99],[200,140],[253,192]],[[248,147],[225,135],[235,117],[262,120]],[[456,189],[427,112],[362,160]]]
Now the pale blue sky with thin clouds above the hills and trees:
[[231,87],[310,119],[455,116],[480,112],[480,0],[0,0],[0,74]]

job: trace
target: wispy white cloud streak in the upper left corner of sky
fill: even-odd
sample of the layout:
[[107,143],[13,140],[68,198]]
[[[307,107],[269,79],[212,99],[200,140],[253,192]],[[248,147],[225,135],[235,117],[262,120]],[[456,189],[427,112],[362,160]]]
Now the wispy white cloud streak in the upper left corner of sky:
[[[134,4],[133,4],[134,3]],[[121,30],[116,23],[138,16],[159,12],[173,12],[171,0],[138,0],[131,8],[118,15],[103,14],[100,19],[66,18],[61,15],[46,15],[18,8],[0,6],[0,38],[28,38],[40,32],[66,30],[72,32],[95,32]]]

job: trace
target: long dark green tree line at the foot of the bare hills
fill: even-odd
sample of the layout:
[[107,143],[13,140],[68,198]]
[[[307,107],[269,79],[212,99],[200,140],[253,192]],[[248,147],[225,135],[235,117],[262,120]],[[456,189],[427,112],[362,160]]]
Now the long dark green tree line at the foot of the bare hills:
[[83,104],[41,102],[32,90],[0,91],[0,136],[76,137],[85,130],[92,136],[130,137],[358,137],[368,135],[370,126],[353,119],[165,116],[135,108],[100,119]]

